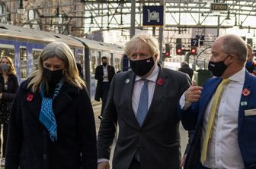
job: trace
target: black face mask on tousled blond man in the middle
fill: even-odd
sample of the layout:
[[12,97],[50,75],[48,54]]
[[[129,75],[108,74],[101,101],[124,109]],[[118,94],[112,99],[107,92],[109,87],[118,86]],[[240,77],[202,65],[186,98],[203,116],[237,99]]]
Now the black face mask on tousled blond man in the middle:
[[143,77],[144,75],[148,74],[154,64],[155,61],[152,57],[139,61],[130,60],[130,67],[132,67],[133,72],[139,77]]

